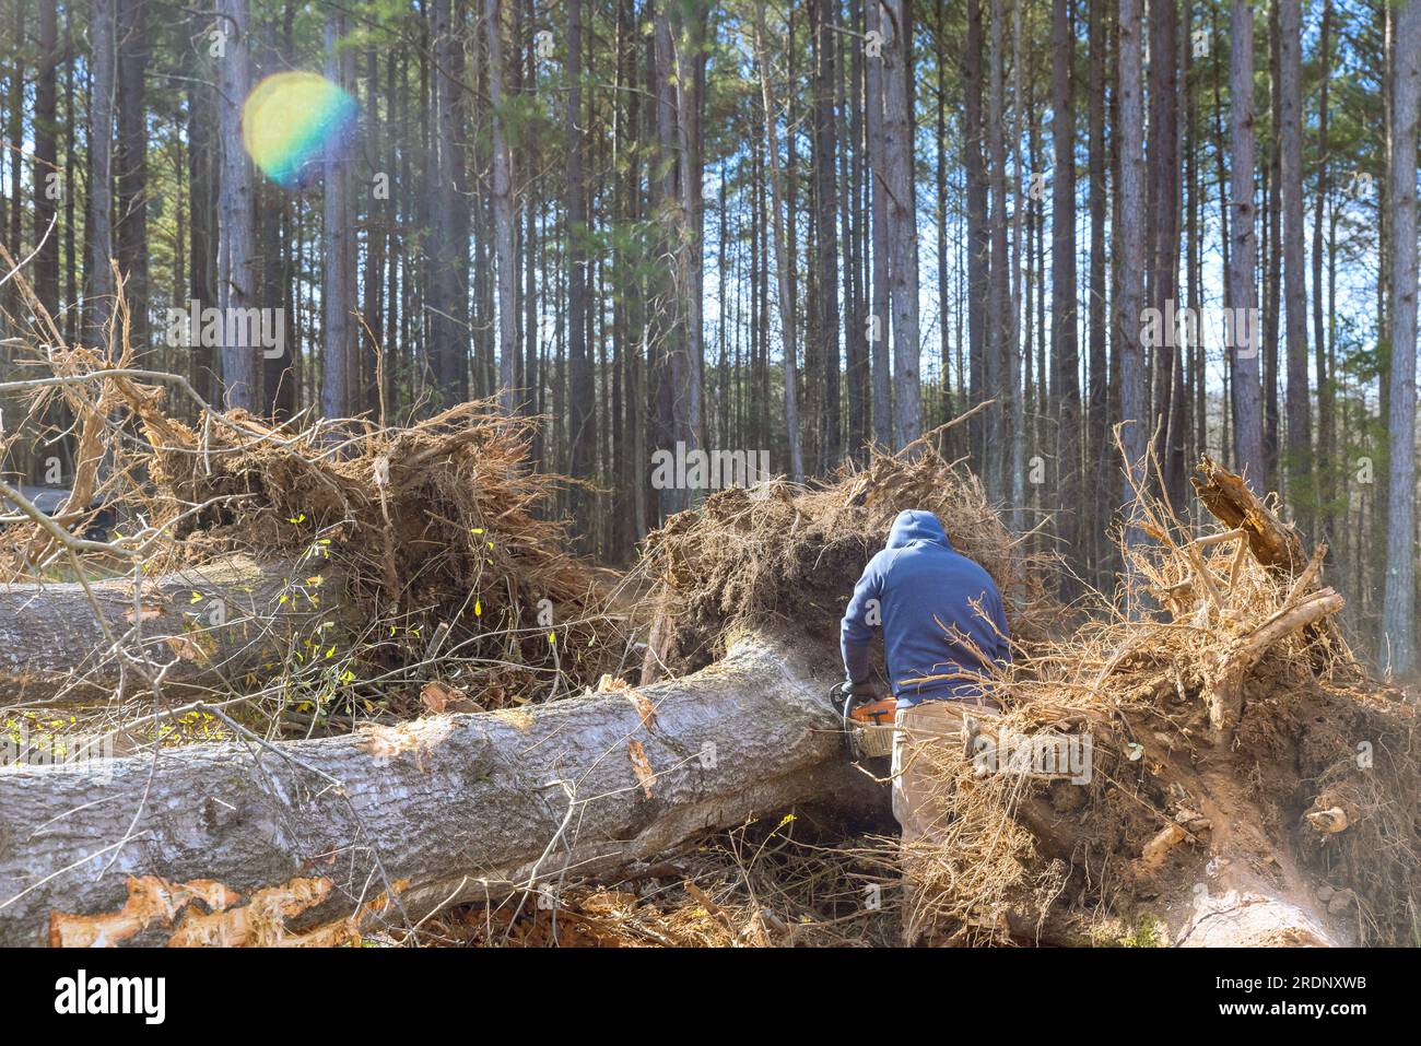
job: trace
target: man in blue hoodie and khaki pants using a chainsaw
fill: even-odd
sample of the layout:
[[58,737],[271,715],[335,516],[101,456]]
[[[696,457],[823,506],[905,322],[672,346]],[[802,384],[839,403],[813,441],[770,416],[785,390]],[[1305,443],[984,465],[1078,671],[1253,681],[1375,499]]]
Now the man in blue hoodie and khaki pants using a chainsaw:
[[[888,544],[864,567],[840,624],[845,688],[871,689],[868,647],[884,635],[888,681],[898,699],[892,746],[892,810],[902,826],[904,856],[929,843],[945,823],[941,782],[924,746],[962,750],[973,721],[993,721],[1000,706],[993,678],[1012,661],[1002,594],[992,577],[952,549],[931,512],[899,512]],[[909,941],[915,927],[909,898]]]

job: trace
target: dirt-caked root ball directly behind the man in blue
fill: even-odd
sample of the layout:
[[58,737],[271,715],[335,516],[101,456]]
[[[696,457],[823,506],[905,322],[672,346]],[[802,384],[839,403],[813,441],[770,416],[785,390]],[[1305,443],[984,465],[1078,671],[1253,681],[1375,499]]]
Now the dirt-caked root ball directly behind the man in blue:
[[854,583],[904,509],[936,514],[952,547],[992,576],[1015,641],[1044,638],[1061,614],[1047,591],[1052,557],[1006,529],[971,470],[926,441],[912,451],[875,452],[816,486],[780,478],[728,487],[666,520],[638,567],[662,671],[703,668],[736,630],[776,632],[811,657],[837,658]]

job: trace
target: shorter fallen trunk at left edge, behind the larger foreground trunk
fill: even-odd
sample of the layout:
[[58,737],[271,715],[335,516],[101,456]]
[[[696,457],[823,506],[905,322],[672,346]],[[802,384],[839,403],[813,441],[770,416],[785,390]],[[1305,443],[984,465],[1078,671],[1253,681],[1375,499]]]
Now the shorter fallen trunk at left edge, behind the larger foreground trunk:
[[[287,642],[338,615],[335,586],[308,580],[315,566],[259,564],[239,556],[134,580],[0,586],[0,701],[92,701],[146,686],[122,671],[115,641],[132,659],[172,662],[169,691],[219,688],[280,658]],[[102,617],[101,617],[102,615]],[[105,632],[107,627],[107,632]]]

